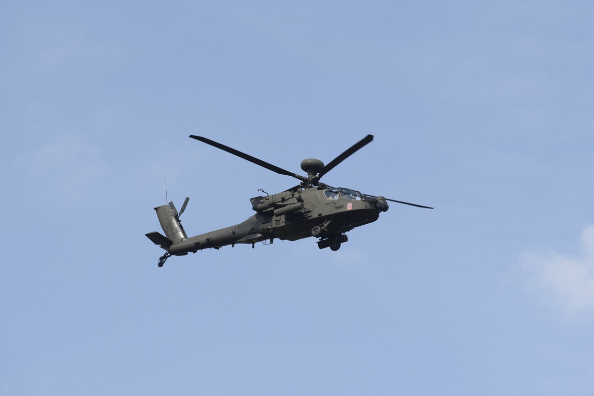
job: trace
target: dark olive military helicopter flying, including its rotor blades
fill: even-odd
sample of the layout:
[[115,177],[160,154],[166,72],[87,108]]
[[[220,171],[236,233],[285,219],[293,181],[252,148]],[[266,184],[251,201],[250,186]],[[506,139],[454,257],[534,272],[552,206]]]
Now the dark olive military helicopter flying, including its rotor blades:
[[252,208],[256,212],[254,216],[235,226],[192,237],[186,235],[179,220],[188,205],[189,198],[185,199],[179,212],[173,205],[173,201],[169,202],[169,205],[155,207],[154,210],[157,212],[165,236],[159,232],[150,232],[146,236],[166,251],[165,255],[159,258],[159,267],[163,267],[170,256],[184,256],[189,252],[195,253],[210,248],[220,249],[227,245],[235,247],[238,243],[251,244],[254,248],[256,242],[269,240],[273,243],[275,238],[298,240],[312,236],[320,239],[317,242],[318,248],[337,251],[340,245],[348,240],[345,233],[377,220],[381,212],[388,210],[387,201],[432,209],[410,202],[361,194],[353,189],[335,188],[320,182],[322,176],[371,142],[373,135],[367,135],[327,165],[317,159],[303,160],[301,169],[307,173],[307,176],[289,172],[201,136],[190,135],[189,137],[280,175],[299,179],[301,183],[279,194],[268,194],[260,189],[258,191],[263,191],[266,195],[250,199]]

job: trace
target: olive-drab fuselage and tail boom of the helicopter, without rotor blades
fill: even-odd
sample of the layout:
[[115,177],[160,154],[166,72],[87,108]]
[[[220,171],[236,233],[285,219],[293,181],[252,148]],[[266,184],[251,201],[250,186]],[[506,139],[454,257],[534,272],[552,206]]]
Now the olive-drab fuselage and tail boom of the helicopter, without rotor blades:
[[254,216],[234,226],[192,237],[185,236],[175,207],[163,205],[155,210],[168,237],[159,236],[171,243],[153,242],[160,244],[170,255],[186,255],[238,243],[254,246],[256,242],[266,240],[272,243],[275,238],[298,240],[314,236],[320,238],[320,249],[337,250],[340,243],[346,242],[346,232],[372,223],[381,211],[387,210],[388,205],[381,198],[345,188],[298,188],[252,198],[252,208],[257,212]]

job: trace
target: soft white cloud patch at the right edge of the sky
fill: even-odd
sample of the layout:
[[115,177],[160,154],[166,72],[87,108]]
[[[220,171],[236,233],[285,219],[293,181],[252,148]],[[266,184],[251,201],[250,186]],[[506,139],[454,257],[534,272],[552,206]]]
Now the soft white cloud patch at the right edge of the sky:
[[565,312],[594,312],[594,224],[580,239],[579,255],[558,252],[520,254],[522,270],[529,274],[529,286],[546,296]]

